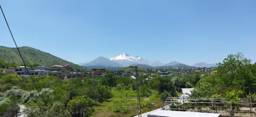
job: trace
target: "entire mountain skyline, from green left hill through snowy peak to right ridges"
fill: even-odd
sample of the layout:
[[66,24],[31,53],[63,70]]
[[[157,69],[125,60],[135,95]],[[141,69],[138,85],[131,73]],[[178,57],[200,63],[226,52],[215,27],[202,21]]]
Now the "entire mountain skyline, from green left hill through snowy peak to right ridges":
[[[192,66],[185,65],[180,62],[170,62],[170,63],[162,63],[160,61],[151,62],[150,60],[144,59],[140,56],[132,57],[126,53],[121,53],[116,57],[98,57],[95,60],[92,60],[88,63],[83,64],[74,64],[63,60],[59,57],[55,57],[47,52],[40,51],[38,49],[34,49],[32,47],[19,47],[19,51],[23,55],[23,59],[27,65],[71,65],[73,68],[84,68],[82,66],[86,66],[87,68],[96,68],[100,66],[101,68],[109,68],[109,67],[127,67],[130,65],[138,65],[143,68],[191,68],[191,67],[215,67],[215,64],[207,64],[207,63],[196,63]],[[16,48],[4,47],[0,46],[0,60],[6,63],[15,63],[18,65],[22,65],[23,62],[19,57],[19,53]]]

